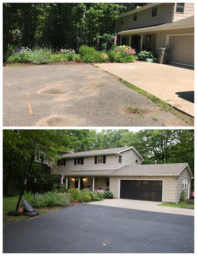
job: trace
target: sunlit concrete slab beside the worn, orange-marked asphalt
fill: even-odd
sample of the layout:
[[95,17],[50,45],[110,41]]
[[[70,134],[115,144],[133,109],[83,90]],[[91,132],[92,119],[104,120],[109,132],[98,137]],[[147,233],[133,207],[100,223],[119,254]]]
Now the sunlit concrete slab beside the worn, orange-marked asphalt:
[[192,68],[148,62],[95,65],[194,117],[194,70]]

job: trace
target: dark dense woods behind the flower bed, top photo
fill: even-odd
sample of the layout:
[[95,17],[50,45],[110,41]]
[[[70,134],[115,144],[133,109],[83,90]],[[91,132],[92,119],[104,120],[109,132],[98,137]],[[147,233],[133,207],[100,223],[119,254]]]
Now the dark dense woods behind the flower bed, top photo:
[[3,49],[74,48],[83,44],[106,49],[113,43],[114,19],[147,3],[3,3]]

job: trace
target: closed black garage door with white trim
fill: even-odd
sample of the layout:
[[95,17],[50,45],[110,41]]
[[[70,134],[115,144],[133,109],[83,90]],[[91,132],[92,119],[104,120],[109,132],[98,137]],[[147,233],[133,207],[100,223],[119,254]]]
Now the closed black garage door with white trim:
[[120,198],[162,202],[162,180],[121,180]]

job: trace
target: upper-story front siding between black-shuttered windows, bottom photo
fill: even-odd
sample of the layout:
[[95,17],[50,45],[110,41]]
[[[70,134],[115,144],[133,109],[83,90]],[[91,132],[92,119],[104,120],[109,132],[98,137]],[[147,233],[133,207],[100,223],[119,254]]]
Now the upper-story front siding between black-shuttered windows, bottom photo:
[[106,155],[106,164],[94,164],[94,156],[84,157],[83,165],[74,165],[74,158],[67,158],[65,166],[53,166],[51,169],[52,174],[66,174],[68,171],[82,171],[84,170],[84,175],[88,174],[89,170],[113,170],[117,169],[117,157],[116,155]]

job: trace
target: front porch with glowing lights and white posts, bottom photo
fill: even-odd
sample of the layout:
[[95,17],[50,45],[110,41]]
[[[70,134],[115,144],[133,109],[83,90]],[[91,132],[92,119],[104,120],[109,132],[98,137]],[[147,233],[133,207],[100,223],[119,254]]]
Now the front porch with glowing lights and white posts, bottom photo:
[[66,177],[66,190],[69,188],[84,189],[89,188],[91,191],[97,189],[109,190],[109,177]]

